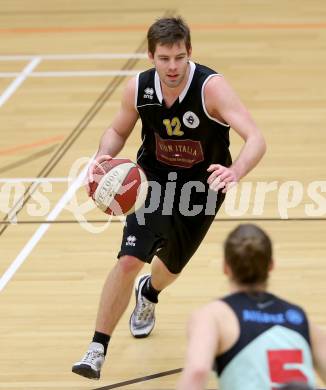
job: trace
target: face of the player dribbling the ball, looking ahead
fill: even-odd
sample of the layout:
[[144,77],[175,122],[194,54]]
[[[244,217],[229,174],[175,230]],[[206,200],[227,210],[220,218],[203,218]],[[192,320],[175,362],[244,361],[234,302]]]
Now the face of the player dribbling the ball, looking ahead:
[[162,83],[177,88],[184,81],[191,51],[187,52],[184,41],[172,46],[157,45],[154,55],[149,53]]

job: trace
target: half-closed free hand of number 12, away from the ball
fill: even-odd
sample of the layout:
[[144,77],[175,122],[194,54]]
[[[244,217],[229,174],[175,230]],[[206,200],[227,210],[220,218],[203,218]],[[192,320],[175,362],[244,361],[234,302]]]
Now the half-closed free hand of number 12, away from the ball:
[[234,169],[231,167],[228,168],[220,164],[211,164],[207,172],[212,172],[207,179],[209,188],[212,191],[218,192],[222,190],[222,193],[225,194],[239,181]]

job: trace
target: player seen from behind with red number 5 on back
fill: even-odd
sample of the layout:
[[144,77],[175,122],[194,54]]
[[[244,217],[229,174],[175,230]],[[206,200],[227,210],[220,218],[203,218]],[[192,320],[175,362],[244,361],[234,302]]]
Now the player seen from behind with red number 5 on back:
[[271,390],[288,382],[314,387],[313,366],[326,382],[326,335],[302,308],[266,291],[273,268],[266,233],[238,226],[225,242],[224,258],[232,293],[193,314],[177,389],[206,389],[212,367],[220,390]]

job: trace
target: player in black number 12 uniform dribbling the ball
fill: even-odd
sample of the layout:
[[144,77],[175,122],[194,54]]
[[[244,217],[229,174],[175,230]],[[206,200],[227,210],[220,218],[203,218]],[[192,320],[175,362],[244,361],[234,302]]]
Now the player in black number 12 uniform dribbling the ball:
[[[157,20],[147,38],[154,68],[127,83],[121,108],[95,158],[101,162],[115,157],[141,119],[137,162],[152,183],[144,218],[127,217],[119,260],[103,287],[93,341],[72,369],[94,379],[100,376],[108,342],[144,264],[151,263],[152,269],[136,282],[130,318],[134,337],[150,334],[158,294],[195,253],[230,185],[265,153],[260,130],[224,77],[190,60],[190,31],[181,18]],[[231,127],[244,140],[233,163]]]

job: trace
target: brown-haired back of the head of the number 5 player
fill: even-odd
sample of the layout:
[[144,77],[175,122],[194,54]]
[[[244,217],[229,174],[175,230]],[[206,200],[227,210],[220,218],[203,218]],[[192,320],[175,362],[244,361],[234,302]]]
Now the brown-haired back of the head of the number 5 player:
[[243,224],[233,230],[225,241],[224,256],[236,283],[250,285],[267,281],[272,243],[258,226]]

